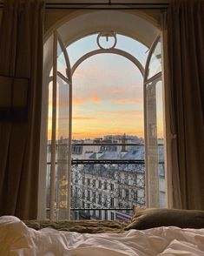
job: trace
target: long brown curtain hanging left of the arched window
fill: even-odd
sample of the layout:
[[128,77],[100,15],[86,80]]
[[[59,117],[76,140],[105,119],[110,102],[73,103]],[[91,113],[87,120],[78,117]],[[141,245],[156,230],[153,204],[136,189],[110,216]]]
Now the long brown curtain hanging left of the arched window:
[[[5,1],[0,29],[0,84],[5,91],[10,86],[18,105],[27,81],[26,118],[0,120],[0,215],[21,219],[37,213],[43,12],[42,0]],[[1,83],[5,77],[11,82]]]

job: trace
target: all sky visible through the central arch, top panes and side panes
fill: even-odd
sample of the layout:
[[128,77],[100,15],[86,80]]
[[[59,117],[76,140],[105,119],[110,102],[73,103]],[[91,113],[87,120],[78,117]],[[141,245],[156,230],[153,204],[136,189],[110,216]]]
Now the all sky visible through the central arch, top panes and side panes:
[[[102,45],[106,47],[102,38]],[[139,59],[143,66],[146,63],[148,49],[132,38],[117,35],[115,48],[128,51]],[[83,37],[67,48],[70,65],[76,63],[85,53],[98,49],[96,35]],[[59,70],[64,74],[63,54],[58,58]],[[73,119],[72,138],[98,138],[107,134],[136,135],[144,137],[143,117],[143,78],[138,68],[126,57],[115,54],[98,54],[89,57],[80,64],[73,77]],[[58,134],[63,138],[68,134],[69,110],[62,108],[69,103],[69,91],[61,81],[61,111],[58,115]],[[158,137],[162,137],[162,104],[161,84],[157,90]],[[50,94],[51,95],[51,94]],[[49,100],[50,100],[49,96]],[[49,119],[50,117],[49,111]],[[49,125],[50,126],[50,125]]]

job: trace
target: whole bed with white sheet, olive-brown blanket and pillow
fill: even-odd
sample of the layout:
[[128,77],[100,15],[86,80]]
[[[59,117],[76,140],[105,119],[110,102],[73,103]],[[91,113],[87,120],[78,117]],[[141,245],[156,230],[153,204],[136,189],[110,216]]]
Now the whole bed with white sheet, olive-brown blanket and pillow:
[[0,255],[203,256],[204,212],[148,209],[135,212],[127,223],[83,220],[60,225],[2,216]]

